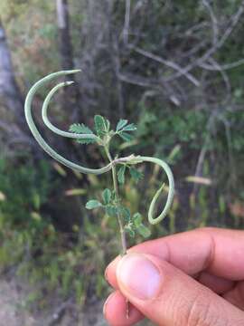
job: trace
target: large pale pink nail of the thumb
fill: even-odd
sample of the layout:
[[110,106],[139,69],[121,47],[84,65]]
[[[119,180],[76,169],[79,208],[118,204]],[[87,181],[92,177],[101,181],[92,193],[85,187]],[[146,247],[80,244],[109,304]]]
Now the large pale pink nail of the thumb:
[[145,255],[127,254],[117,265],[117,280],[131,295],[148,300],[160,292],[163,275]]

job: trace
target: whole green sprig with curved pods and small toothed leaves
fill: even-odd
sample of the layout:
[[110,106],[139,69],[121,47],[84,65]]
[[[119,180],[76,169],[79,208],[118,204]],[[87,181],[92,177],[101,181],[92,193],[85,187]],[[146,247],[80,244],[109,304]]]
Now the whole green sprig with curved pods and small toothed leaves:
[[[64,166],[68,168],[72,168],[77,172],[81,172],[84,174],[92,174],[92,175],[101,175],[109,170],[112,172],[112,179],[113,179],[113,190],[106,188],[102,193],[103,204],[99,202],[97,199],[91,199],[86,205],[88,209],[94,208],[104,208],[105,213],[110,217],[117,217],[117,222],[119,226],[119,233],[121,236],[121,246],[122,246],[122,254],[127,254],[127,237],[126,232],[129,233],[132,237],[138,233],[139,235],[143,235],[148,237],[150,235],[149,229],[143,224],[142,216],[140,213],[136,212],[133,216],[131,216],[130,210],[121,205],[121,200],[118,194],[118,183],[124,184],[125,183],[125,174],[126,170],[129,169],[131,177],[138,181],[142,174],[134,168],[136,164],[143,163],[143,162],[153,162],[157,164],[159,167],[163,168],[168,180],[169,180],[169,195],[164,206],[164,210],[162,213],[154,217],[154,210],[155,210],[155,202],[157,198],[160,196],[164,185],[159,188],[156,192],[155,197],[153,198],[148,211],[148,221],[155,225],[161,222],[164,217],[167,215],[170,206],[172,205],[174,199],[174,177],[172,174],[171,169],[169,166],[162,160],[158,158],[151,158],[151,157],[144,157],[144,156],[135,156],[134,154],[129,155],[127,157],[119,158],[116,156],[112,158],[110,154],[110,142],[114,137],[119,137],[126,142],[129,142],[133,139],[131,135],[131,131],[136,130],[136,126],[134,123],[128,124],[128,120],[120,119],[117,122],[117,127],[115,130],[111,129],[110,122],[108,119],[103,118],[100,115],[95,115],[94,117],[94,126],[96,129],[96,133],[94,133],[89,127],[85,126],[83,123],[75,123],[70,126],[70,132],[61,130],[56,128],[52,125],[51,121],[48,119],[48,105],[49,102],[52,100],[52,96],[56,91],[61,89],[61,87],[69,86],[73,82],[61,82],[60,84],[53,87],[52,91],[49,92],[45,101],[42,105],[42,119],[45,125],[51,129],[57,135],[62,137],[68,137],[70,139],[76,139],[78,143],[81,145],[87,145],[92,143],[97,143],[106,154],[108,159],[108,165],[104,168],[84,168],[81,167],[70,160],[61,157],[59,153],[57,153],[54,149],[52,149],[44,139],[42,139],[41,134],[39,133],[38,129],[33,122],[32,116],[32,103],[33,103],[33,96],[39,90],[39,88],[45,84],[46,82],[52,81],[53,78],[61,76],[61,75],[68,75],[73,74],[77,71],[63,71],[63,72],[54,72],[49,74],[48,76],[42,78],[41,81],[36,82],[31,90],[28,92],[25,105],[24,105],[24,112],[25,118],[28,123],[29,128],[33,133],[33,137],[39,143],[43,150],[45,150],[52,158],[56,159],[57,161],[61,162]],[[120,168],[117,171],[117,165]]]

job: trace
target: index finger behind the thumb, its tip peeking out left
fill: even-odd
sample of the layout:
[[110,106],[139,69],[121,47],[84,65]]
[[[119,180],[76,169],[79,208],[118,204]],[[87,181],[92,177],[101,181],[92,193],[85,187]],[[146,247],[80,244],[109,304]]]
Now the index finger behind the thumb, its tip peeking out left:
[[[231,281],[244,277],[243,231],[196,229],[147,241],[128,250],[131,252],[154,254],[189,275],[206,271]],[[115,271],[119,259],[117,257],[106,270],[108,283],[114,287],[117,287]]]

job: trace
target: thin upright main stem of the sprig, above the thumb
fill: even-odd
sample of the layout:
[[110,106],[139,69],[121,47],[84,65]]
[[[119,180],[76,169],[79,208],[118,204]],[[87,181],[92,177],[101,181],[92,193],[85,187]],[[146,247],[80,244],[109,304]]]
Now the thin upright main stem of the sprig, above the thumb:
[[[111,154],[108,149],[108,145],[105,146],[105,151],[108,156],[109,162],[113,162],[113,158],[111,157]],[[118,194],[118,186],[117,186],[117,170],[116,166],[113,164],[112,165],[112,178],[113,178],[113,185],[114,185],[114,191],[115,191],[115,203],[117,208],[119,207],[119,194]],[[120,232],[120,238],[121,238],[121,247],[122,247],[122,252],[121,255],[127,254],[127,237],[126,237],[126,232],[125,232],[125,227],[123,224],[122,216],[119,212],[119,209],[117,209],[117,223],[119,225],[119,232]]]

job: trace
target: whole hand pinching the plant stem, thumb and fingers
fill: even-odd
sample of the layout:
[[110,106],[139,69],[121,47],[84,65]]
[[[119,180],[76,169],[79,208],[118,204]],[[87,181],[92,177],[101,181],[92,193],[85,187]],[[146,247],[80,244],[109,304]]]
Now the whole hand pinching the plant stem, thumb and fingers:
[[[109,325],[244,325],[244,232],[203,228],[136,245],[108,265]],[[129,317],[127,318],[127,301]]]

